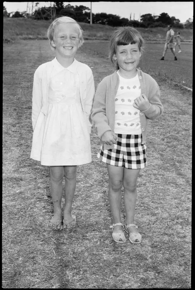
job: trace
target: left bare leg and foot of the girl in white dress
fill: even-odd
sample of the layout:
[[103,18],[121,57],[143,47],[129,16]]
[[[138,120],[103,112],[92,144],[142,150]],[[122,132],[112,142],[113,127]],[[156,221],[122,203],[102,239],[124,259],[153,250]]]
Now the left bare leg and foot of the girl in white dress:
[[64,178],[64,168],[63,166],[50,166],[50,185],[51,185],[51,195],[53,199],[54,215],[51,219],[49,226],[53,229],[61,228],[61,218],[62,218],[62,180]]

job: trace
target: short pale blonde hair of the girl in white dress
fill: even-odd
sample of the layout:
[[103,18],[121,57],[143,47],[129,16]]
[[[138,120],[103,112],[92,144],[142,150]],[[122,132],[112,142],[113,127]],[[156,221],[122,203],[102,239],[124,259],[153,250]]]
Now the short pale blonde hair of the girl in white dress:
[[78,37],[79,37],[79,47],[81,47],[84,43],[84,39],[83,39],[83,30],[82,28],[80,27],[80,25],[77,23],[76,20],[74,20],[73,18],[71,17],[68,17],[68,16],[62,16],[62,17],[58,17],[56,18],[49,26],[48,30],[47,30],[47,37],[49,39],[49,43],[50,43],[50,47],[52,50],[55,50],[55,47],[53,47],[51,45],[51,42],[54,40],[53,39],[53,36],[54,36],[54,30],[55,28],[61,24],[61,23],[75,23],[75,25],[77,26],[78,28]]

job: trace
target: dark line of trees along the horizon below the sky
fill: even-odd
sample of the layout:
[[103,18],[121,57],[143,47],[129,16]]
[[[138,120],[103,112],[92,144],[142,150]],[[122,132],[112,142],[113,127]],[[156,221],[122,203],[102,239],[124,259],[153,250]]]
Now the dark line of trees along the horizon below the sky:
[[[37,2],[35,5],[37,5]],[[27,14],[26,11],[19,12],[16,11],[10,16],[7,12],[5,6],[3,6],[3,16],[4,17],[32,17],[36,20],[49,20],[50,19],[50,11],[51,8],[55,8],[55,17],[58,16],[69,16],[75,19],[78,22],[90,23],[90,8],[80,5],[80,6],[72,6],[70,4],[64,6],[64,2],[54,2],[53,7],[41,7],[37,8],[32,14]],[[121,18],[118,15],[114,14],[107,14],[105,12],[102,13],[92,13],[92,23],[98,23],[102,25],[109,25],[109,26],[134,26],[134,27],[166,27],[167,25],[171,24],[175,28],[193,28],[193,22],[188,19],[185,24],[183,25],[180,23],[179,19],[176,19],[174,16],[170,17],[167,13],[163,12],[158,16],[154,16],[150,13],[143,14],[140,16],[140,21],[138,20],[131,20],[127,18]]]

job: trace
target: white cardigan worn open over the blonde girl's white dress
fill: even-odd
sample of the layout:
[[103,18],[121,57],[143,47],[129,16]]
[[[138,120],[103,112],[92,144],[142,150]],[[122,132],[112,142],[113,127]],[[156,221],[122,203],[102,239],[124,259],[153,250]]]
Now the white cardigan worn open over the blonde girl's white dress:
[[[93,80],[93,73],[91,68],[75,59],[77,72],[80,80],[80,98],[83,112],[88,117],[89,132],[91,132],[91,110],[93,105],[93,99],[95,95],[95,86]],[[53,70],[53,62],[48,61],[41,64],[35,71],[33,89],[32,89],[32,128],[35,129],[35,125],[38,116],[41,113],[44,116],[47,115],[48,110],[48,86],[50,74]],[[44,122],[45,118],[41,118]]]

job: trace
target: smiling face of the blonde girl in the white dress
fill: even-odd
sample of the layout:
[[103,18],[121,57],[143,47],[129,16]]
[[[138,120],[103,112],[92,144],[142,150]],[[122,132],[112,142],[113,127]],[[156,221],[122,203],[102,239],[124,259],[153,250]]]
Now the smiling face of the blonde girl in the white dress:
[[79,47],[78,28],[75,23],[60,23],[54,30],[51,45],[56,57],[74,57]]

